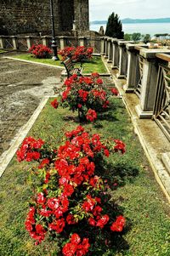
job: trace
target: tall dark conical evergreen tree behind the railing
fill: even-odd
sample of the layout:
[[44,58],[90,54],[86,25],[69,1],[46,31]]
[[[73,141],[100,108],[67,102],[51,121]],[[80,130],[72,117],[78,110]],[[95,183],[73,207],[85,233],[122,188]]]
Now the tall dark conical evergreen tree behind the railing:
[[109,16],[105,30],[105,36],[123,39],[124,32],[122,31],[122,22],[119,20],[117,14],[112,13]]

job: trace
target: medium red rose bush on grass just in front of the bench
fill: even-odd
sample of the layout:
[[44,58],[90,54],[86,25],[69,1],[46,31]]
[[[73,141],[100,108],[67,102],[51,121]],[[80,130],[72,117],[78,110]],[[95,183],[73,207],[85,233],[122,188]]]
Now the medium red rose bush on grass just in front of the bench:
[[92,73],[91,77],[74,74],[65,80],[60,102],[63,107],[69,106],[71,111],[78,111],[80,120],[93,122],[98,112],[108,109],[110,94],[98,73]]

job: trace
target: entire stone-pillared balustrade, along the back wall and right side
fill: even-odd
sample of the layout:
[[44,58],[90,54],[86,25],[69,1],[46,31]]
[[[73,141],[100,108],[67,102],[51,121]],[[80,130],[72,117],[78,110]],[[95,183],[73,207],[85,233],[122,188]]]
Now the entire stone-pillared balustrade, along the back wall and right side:
[[[56,41],[58,48],[71,45],[95,48],[97,45],[95,52],[104,55],[106,61],[111,63],[111,68],[117,69],[117,78],[126,79],[123,87],[125,92],[138,96],[139,104],[135,106],[135,110],[139,118],[153,117],[153,111],[156,110],[156,94],[159,94],[159,91],[156,93],[156,86],[162,76],[159,67],[170,63],[169,49],[148,48],[146,44],[135,44],[112,37],[56,37]],[[26,50],[33,43],[50,46],[51,37],[0,36],[0,48]]]

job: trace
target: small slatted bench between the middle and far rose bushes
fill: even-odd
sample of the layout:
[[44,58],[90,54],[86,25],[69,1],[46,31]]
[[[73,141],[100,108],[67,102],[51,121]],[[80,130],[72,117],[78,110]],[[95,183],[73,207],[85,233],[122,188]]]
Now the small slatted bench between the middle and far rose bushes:
[[65,65],[67,77],[71,77],[74,74],[77,74],[77,76],[82,76],[82,63],[80,67],[74,67],[74,64],[72,63],[71,58],[68,58],[68,57],[61,63]]

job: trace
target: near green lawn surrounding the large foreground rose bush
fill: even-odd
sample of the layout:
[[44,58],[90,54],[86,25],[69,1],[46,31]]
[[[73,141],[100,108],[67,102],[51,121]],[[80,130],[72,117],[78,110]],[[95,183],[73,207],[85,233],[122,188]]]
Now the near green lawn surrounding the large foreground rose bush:
[[[54,110],[48,102],[29,135],[57,147],[65,130],[78,125],[75,117],[76,112]],[[127,145],[125,155],[111,156],[109,171],[105,173],[105,178],[118,183],[111,195],[127,218],[127,228],[115,241],[115,247],[108,248],[102,255],[169,256],[169,206],[156,184],[139,139],[133,134],[122,100],[116,99],[111,111],[103,114],[99,121],[83,126],[105,138],[122,139]],[[26,183],[28,168],[31,163],[18,163],[14,156],[0,180],[0,255],[3,256],[45,256],[54,248],[46,242],[35,247],[24,227],[31,195]],[[93,253],[93,256],[99,255]]]

